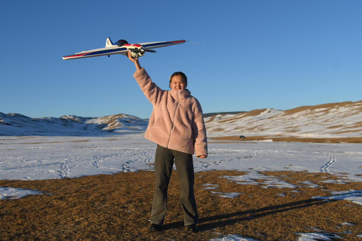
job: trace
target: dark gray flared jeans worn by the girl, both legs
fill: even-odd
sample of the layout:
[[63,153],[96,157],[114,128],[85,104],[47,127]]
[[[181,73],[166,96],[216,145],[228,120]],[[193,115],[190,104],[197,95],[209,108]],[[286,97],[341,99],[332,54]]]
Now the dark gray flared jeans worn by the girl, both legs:
[[157,145],[155,156],[155,195],[151,212],[151,223],[163,224],[167,212],[167,189],[173,162],[176,164],[181,185],[180,202],[184,212],[184,224],[197,224],[198,214],[194,196],[194,164],[192,155]]

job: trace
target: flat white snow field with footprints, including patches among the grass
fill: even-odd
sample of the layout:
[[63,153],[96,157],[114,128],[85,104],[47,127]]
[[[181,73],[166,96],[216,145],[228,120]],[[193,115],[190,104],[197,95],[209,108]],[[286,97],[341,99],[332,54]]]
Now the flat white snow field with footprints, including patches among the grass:
[[[153,170],[156,145],[143,133],[104,136],[1,136],[0,179],[41,180],[71,178],[85,175],[112,174]],[[245,171],[242,176],[224,176],[240,185],[261,185],[262,188],[294,188],[277,177],[262,175],[261,171],[327,172],[340,176],[339,180],[326,178],[325,182],[362,181],[362,145],[358,143],[301,143],[301,142],[218,142],[209,140],[209,156],[194,157],[195,172],[215,169]],[[346,173],[342,175],[341,173]],[[258,181],[256,181],[256,179]],[[265,180],[265,181],[262,181]],[[303,181],[301,186],[319,185]],[[234,198],[239,193],[221,193],[217,186],[204,188],[211,195]],[[281,191],[282,192],[282,191]],[[38,190],[0,187],[0,199],[22,198],[40,194]],[[51,194],[50,194],[51,195]],[[333,191],[320,199],[345,199],[351,205],[362,205],[362,190]],[[297,233],[298,241],[331,240],[337,234],[317,232]],[[236,234],[212,241],[254,241]]]

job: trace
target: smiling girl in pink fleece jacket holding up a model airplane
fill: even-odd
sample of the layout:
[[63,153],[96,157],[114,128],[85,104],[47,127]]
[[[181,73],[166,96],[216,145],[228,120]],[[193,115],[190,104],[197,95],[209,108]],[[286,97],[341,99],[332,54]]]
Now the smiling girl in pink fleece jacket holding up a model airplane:
[[198,232],[198,214],[194,196],[194,166],[192,154],[207,157],[206,128],[198,100],[186,89],[187,77],[175,72],[170,77],[171,90],[161,90],[151,81],[138,58],[128,52],[135,64],[133,74],[144,95],[153,105],[145,137],[157,143],[155,156],[155,194],[150,231],[159,231],[167,211],[167,188],[173,162],[181,185],[180,202],[184,225],[188,233]]

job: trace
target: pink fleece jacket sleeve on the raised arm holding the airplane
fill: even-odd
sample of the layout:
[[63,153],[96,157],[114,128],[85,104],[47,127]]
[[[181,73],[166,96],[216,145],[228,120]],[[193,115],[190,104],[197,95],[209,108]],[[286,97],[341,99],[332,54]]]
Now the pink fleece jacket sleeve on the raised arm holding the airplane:
[[143,67],[140,71],[136,71],[133,74],[133,77],[136,79],[139,87],[141,87],[143,94],[153,105],[161,102],[165,90],[161,90],[160,87],[152,82],[150,76]]

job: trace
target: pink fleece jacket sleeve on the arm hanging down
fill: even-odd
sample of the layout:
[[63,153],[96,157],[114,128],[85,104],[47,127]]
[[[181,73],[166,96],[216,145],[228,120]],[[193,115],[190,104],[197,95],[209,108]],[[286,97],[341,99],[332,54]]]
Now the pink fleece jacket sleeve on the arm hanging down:
[[193,105],[194,115],[192,117],[191,128],[193,134],[193,142],[195,155],[207,156],[207,138],[206,138],[206,127],[202,117],[201,105],[197,99],[195,99]]

